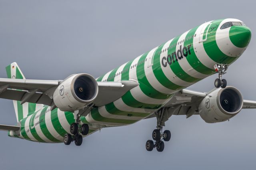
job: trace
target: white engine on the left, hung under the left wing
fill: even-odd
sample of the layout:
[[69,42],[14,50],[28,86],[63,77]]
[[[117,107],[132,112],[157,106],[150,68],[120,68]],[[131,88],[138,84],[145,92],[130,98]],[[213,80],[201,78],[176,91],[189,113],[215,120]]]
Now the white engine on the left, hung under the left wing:
[[89,74],[70,75],[56,88],[53,101],[61,111],[83,109],[98,95],[98,83]]

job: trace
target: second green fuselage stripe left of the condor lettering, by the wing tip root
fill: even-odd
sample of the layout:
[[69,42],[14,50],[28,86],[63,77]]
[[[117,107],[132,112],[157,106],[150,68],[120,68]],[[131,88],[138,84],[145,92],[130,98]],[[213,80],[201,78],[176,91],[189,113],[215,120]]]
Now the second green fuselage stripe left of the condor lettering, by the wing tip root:
[[[151,97],[153,99],[168,99],[170,97],[170,95],[160,93],[159,91],[154,89],[154,87],[152,87],[152,85],[150,85],[150,83],[148,82],[148,79],[146,78],[144,65],[145,64],[147,65],[147,63],[148,63],[148,61],[145,61],[148,53],[149,52],[146,52],[140,57],[140,59],[137,63],[137,66],[136,66],[137,78],[138,78],[138,81],[140,82],[140,89],[145,95],[147,95],[148,97]],[[145,63],[144,63],[144,61],[145,61]],[[132,69],[135,69],[135,68],[132,68]]]

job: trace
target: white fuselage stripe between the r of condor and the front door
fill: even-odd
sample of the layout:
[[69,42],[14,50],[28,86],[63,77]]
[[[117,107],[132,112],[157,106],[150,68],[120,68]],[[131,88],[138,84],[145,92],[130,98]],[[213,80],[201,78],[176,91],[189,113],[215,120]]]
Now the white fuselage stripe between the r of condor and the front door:
[[204,49],[204,44],[203,43],[199,43],[199,38],[200,38],[200,32],[202,30],[202,28],[205,25],[208,25],[209,22],[206,22],[202,25],[200,25],[196,32],[195,35],[196,37],[193,38],[193,47],[194,47],[194,51],[196,54],[196,57],[198,58],[198,60],[205,65],[206,67],[210,68],[210,69],[214,69],[214,65],[216,64],[215,61],[213,61],[206,53],[205,49]]

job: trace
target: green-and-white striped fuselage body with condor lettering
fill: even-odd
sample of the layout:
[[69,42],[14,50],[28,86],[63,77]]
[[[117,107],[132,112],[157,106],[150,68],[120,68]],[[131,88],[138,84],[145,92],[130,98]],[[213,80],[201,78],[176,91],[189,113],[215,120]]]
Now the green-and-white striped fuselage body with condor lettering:
[[[237,19],[213,20],[192,28],[98,77],[97,81],[131,80],[139,85],[112,103],[94,107],[81,121],[89,125],[89,134],[103,127],[136,123],[157,111],[177,91],[216,73],[216,63],[233,63],[250,38],[250,29]],[[9,136],[63,142],[75,121],[73,113],[50,111],[43,105],[28,115],[20,121],[20,135],[10,131]]]

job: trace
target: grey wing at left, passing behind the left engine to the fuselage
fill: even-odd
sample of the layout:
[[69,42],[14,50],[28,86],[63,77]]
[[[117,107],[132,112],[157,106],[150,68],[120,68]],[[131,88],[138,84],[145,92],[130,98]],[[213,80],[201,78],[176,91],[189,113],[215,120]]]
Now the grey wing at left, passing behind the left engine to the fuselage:
[[[53,93],[61,80],[30,80],[0,78],[0,98],[52,105]],[[93,102],[96,106],[106,105],[124,95],[138,83],[134,81],[97,82],[99,92]]]

